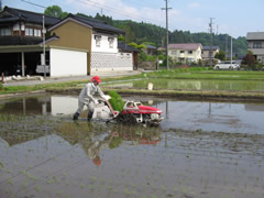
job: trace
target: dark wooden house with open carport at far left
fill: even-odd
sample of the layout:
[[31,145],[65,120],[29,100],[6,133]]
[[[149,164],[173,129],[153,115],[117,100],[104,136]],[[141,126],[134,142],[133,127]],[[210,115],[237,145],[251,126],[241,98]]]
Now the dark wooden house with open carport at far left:
[[[61,21],[45,15],[45,28]],[[4,7],[0,12],[0,74],[32,74],[43,52],[43,14]],[[26,70],[25,66],[26,65]]]

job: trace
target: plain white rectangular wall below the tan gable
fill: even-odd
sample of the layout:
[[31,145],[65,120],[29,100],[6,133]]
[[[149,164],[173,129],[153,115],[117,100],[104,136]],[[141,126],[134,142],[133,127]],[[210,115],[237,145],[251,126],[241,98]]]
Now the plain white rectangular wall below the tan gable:
[[87,53],[51,48],[51,77],[87,75]]

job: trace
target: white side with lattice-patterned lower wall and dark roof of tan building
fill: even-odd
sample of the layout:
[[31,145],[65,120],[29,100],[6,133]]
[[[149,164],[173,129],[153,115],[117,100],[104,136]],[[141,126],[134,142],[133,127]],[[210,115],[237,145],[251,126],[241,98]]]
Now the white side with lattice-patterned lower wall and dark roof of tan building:
[[128,53],[124,54],[118,48],[118,36],[124,35],[125,32],[99,20],[81,15],[72,16],[92,28],[90,74],[95,72],[133,70],[132,53],[128,55]]

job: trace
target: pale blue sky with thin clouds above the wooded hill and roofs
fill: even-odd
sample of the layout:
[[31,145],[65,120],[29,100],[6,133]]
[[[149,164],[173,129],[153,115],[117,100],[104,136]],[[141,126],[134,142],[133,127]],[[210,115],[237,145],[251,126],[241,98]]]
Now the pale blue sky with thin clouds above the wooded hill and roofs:
[[[113,20],[132,20],[166,28],[165,0],[0,0],[2,7],[43,13],[46,7],[59,6],[64,12],[96,13]],[[29,3],[30,2],[30,3]],[[37,6],[34,6],[37,4]],[[44,8],[43,8],[44,7]],[[209,32],[233,37],[248,32],[264,32],[264,0],[168,0],[169,31]]]

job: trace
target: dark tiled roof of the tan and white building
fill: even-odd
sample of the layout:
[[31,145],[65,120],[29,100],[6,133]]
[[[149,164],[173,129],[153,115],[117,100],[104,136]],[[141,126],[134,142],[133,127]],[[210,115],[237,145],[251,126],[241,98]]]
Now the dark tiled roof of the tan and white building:
[[114,33],[114,34],[124,34],[125,32],[117,29],[112,25],[109,25],[107,22],[95,20],[91,18],[86,18],[81,15],[68,14],[67,18],[73,18],[79,22],[82,22],[92,28],[94,31],[102,32],[102,33]]

